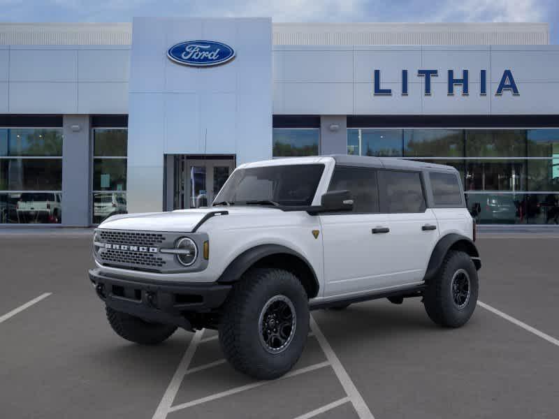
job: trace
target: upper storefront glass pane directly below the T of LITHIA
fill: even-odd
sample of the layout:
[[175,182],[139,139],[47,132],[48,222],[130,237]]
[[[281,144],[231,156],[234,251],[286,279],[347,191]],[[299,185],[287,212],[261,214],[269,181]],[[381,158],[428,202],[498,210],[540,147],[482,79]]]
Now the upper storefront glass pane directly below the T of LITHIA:
[[464,131],[451,129],[404,130],[404,156],[462,157]]

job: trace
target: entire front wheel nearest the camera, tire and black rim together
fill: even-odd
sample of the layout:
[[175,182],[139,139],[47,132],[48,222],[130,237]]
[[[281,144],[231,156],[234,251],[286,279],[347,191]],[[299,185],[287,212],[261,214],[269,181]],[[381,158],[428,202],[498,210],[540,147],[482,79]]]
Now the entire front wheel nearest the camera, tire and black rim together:
[[307,293],[293,274],[249,270],[224,305],[219,342],[225,358],[253,378],[282,376],[303,353],[309,317]]

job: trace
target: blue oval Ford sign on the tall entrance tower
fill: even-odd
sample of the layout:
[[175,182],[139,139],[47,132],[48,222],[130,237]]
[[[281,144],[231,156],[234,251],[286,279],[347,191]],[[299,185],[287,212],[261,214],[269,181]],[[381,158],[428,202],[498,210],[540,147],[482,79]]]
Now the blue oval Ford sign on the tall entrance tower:
[[170,47],[167,57],[186,66],[210,67],[231,61],[235,50],[216,41],[187,41]]

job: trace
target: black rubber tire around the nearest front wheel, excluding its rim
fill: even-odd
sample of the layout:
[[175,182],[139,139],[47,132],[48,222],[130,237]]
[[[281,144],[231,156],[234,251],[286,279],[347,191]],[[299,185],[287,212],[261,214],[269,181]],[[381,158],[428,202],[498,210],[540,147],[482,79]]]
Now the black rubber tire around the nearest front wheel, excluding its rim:
[[[295,329],[282,352],[270,353],[261,342],[259,321],[266,303],[277,295],[293,304]],[[259,380],[278,378],[303,353],[309,318],[307,293],[295,275],[275,268],[251,269],[235,283],[224,303],[219,342],[226,360],[238,371]]]

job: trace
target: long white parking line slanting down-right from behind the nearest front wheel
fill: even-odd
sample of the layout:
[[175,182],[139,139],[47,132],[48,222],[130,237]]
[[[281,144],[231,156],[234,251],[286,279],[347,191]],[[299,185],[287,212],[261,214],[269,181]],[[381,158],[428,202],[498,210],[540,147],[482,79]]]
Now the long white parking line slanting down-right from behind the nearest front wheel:
[[337,376],[337,379],[340,380],[340,383],[342,384],[342,387],[344,388],[347,396],[349,397],[351,404],[354,405],[354,409],[357,412],[359,418],[375,419],[375,416],[372,416],[372,413],[369,410],[367,404],[365,403],[365,400],[363,400],[361,393],[358,392],[354,382],[351,381],[349,374],[347,374],[347,371],[342,365],[342,362],[340,362],[340,360],[337,358],[337,355],[333,351],[332,346],[328,344],[326,337],[324,337],[322,331],[319,328],[319,325],[317,325],[317,322],[314,321],[314,318],[312,318],[312,316],[310,316],[310,327],[312,329],[312,332],[314,332],[314,336],[319,341],[319,345],[321,346],[322,351],[324,351],[324,355],[326,355],[326,359],[331,363],[332,368],[334,369],[334,372]]

